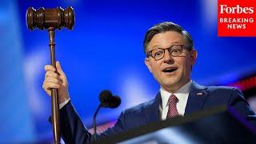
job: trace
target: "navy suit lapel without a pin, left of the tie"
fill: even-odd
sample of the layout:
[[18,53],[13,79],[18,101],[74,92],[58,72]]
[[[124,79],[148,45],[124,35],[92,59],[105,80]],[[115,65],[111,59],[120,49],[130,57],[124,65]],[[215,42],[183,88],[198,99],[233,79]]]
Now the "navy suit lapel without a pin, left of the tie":
[[152,102],[150,102],[150,104],[145,107],[144,114],[146,116],[146,122],[160,121],[160,116],[159,116],[160,102],[161,102],[161,95],[160,95],[160,92],[158,92],[158,94],[154,98],[154,100]]

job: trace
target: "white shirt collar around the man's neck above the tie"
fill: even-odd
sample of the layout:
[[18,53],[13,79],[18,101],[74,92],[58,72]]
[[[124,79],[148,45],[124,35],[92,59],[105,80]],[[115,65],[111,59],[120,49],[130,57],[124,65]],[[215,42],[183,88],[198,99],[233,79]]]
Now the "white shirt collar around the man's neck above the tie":
[[[190,82],[187,82],[184,86],[182,86],[180,89],[178,89],[174,93],[175,96],[178,98],[178,102],[183,103],[184,101],[186,101],[187,98],[184,97],[184,94],[189,94],[191,84],[192,84],[192,81],[190,80]],[[168,99],[169,99],[171,93],[169,93],[168,91],[163,90],[161,88],[160,94],[161,94],[161,98],[162,98],[162,108],[164,108],[167,106]]]

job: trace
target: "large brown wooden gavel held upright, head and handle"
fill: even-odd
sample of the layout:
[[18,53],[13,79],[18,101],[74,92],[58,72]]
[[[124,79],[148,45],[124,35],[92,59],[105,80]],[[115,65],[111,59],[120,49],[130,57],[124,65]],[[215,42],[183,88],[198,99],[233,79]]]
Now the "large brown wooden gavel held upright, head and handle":
[[[40,30],[47,29],[50,38],[50,61],[55,67],[55,52],[54,52],[54,30],[67,28],[72,30],[74,27],[74,10],[72,7],[67,7],[63,10],[62,7],[55,9],[44,9],[43,7],[35,10],[30,7],[26,10],[26,26],[29,30],[38,28]],[[57,70],[57,69],[56,69]],[[53,125],[54,143],[60,143],[60,122],[59,122],[59,106],[58,106],[58,90],[51,90],[51,122]]]

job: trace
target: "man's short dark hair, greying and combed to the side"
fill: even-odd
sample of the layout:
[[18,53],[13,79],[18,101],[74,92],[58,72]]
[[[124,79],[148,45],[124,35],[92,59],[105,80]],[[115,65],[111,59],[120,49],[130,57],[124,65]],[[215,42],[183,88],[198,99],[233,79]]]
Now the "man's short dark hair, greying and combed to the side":
[[145,54],[146,54],[147,46],[149,45],[154,35],[165,33],[166,31],[176,31],[179,34],[182,34],[182,36],[185,38],[186,46],[188,47],[188,50],[192,50],[194,48],[194,42],[192,37],[186,30],[182,29],[182,26],[179,26],[174,22],[161,22],[154,25],[149,30],[147,30],[144,41],[143,41]]

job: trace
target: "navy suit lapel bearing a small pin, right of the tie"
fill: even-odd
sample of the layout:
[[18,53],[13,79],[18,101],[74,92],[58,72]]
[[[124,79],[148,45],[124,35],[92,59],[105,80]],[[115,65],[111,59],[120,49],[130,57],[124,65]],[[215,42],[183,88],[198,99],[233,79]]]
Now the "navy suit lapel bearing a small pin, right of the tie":
[[189,98],[186,102],[185,115],[202,109],[202,106],[208,97],[206,89],[206,86],[200,86],[196,82],[192,82]]

